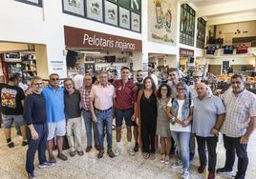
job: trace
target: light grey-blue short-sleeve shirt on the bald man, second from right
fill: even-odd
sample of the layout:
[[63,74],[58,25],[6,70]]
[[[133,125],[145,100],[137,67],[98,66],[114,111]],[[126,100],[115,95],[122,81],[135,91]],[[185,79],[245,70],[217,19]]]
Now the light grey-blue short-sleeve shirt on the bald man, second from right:
[[221,98],[207,95],[202,100],[194,98],[192,132],[201,137],[213,136],[210,130],[215,126],[217,116],[223,114],[224,104]]

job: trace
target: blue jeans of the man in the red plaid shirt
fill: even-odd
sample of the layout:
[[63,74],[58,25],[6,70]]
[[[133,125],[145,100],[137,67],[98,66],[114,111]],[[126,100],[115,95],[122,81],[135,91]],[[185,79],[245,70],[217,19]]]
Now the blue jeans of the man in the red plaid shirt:
[[92,117],[91,111],[83,110],[83,119],[84,119],[84,126],[86,129],[87,146],[91,146],[91,147],[93,146],[92,129],[94,129],[95,145],[98,145],[96,123],[94,123],[92,120],[93,117]]

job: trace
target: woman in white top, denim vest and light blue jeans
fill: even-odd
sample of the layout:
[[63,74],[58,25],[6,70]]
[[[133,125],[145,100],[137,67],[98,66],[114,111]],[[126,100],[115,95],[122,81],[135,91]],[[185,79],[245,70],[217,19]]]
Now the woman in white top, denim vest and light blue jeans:
[[166,107],[171,134],[177,144],[179,158],[172,168],[183,168],[182,179],[189,178],[189,140],[193,115],[192,100],[188,97],[187,92],[185,83],[179,82],[177,96],[170,99]]

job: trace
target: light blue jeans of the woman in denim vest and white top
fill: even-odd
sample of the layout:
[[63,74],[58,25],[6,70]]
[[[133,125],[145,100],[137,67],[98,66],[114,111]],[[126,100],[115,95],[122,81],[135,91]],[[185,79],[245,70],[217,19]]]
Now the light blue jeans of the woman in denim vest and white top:
[[172,137],[177,145],[178,157],[182,161],[183,169],[189,168],[189,141],[190,132],[186,131],[173,131],[171,130]]

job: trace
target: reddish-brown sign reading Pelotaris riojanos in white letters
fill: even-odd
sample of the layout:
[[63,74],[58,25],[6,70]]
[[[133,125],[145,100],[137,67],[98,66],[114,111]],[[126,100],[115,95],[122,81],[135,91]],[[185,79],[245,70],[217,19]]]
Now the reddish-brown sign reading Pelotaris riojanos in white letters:
[[64,26],[65,45],[84,50],[141,51],[141,40]]

